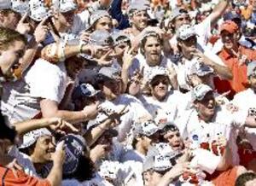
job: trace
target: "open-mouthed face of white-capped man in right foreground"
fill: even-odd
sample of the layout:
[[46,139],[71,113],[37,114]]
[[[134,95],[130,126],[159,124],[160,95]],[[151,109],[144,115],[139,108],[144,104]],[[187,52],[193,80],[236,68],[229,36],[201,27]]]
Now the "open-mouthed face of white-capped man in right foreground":
[[201,119],[211,120],[216,111],[216,102],[212,91],[209,91],[201,101],[195,101],[195,108]]

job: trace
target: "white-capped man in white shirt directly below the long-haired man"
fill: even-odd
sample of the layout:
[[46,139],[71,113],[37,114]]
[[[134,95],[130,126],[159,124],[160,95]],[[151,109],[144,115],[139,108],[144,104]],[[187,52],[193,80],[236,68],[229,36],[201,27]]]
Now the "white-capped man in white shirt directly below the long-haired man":
[[[144,108],[158,120],[173,122],[185,109],[186,99],[178,90],[171,90],[169,72],[164,67],[153,67],[144,77],[147,79],[149,96],[140,96]],[[147,76],[148,75],[148,76]]]

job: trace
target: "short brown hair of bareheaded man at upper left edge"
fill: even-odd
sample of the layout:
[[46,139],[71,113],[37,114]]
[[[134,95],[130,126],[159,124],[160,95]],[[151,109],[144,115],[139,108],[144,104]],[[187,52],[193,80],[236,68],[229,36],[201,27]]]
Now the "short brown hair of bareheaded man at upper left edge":
[[0,27],[0,49],[6,49],[15,41],[27,43],[26,37],[9,28]]

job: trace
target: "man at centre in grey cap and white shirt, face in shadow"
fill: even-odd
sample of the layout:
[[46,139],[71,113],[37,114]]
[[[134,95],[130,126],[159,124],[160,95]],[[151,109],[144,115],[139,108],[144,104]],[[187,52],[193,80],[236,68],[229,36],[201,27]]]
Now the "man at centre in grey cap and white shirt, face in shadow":
[[121,117],[120,125],[117,126],[119,131],[119,142],[124,142],[125,137],[131,130],[131,125],[139,117],[148,112],[135,97],[122,95],[122,81],[120,71],[114,67],[102,67],[98,73],[98,85],[105,95],[105,101],[101,103],[101,108],[105,113],[100,113],[96,118],[96,124],[108,117],[109,113],[121,110],[124,107],[129,110]]

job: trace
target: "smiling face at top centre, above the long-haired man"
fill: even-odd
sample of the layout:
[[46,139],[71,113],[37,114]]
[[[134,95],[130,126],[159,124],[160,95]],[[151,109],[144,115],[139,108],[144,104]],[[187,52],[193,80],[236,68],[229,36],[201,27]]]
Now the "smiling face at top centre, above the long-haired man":
[[146,10],[134,13],[131,17],[132,26],[136,27],[138,31],[143,31],[148,26],[148,13]]

